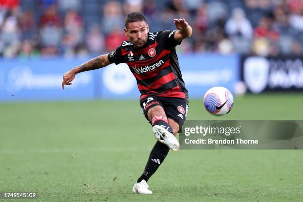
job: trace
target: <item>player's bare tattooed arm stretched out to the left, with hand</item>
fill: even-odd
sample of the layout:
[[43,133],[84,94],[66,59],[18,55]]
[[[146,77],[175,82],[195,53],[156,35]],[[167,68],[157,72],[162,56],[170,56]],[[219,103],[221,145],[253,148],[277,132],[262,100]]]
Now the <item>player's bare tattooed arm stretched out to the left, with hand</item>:
[[80,64],[79,66],[72,68],[68,72],[65,72],[63,74],[62,88],[64,89],[65,85],[71,85],[71,82],[75,79],[76,74],[80,72],[99,69],[101,67],[105,67],[111,64],[111,62],[107,58],[107,55],[108,54],[103,54],[98,57],[95,57],[83,64]]

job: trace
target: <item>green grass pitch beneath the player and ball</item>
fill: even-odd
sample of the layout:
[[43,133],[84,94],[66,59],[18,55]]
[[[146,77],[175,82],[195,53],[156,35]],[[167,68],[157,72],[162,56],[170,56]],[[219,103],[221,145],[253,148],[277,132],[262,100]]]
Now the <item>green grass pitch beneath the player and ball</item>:
[[[248,95],[218,118],[190,100],[188,119],[302,119],[302,104],[299,94]],[[170,151],[153,194],[133,194],[156,141],[138,101],[0,103],[0,114],[0,191],[43,202],[303,201],[302,150]]]

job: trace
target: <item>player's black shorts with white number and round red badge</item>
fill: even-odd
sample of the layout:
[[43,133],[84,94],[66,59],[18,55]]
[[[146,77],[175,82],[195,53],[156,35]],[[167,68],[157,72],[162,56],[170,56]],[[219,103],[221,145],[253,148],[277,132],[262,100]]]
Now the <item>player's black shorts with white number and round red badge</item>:
[[[178,133],[182,132],[182,126],[186,120],[188,111],[188,101],[182,98],[160,98],[149,96],[140,101],[142,112],[145,118],[151,123],[148,118],[148,111],[153,106],[160,105],[163,107],[166,117],[171,118],[179,124]],[[151,123],[152,124],[152,123]]]

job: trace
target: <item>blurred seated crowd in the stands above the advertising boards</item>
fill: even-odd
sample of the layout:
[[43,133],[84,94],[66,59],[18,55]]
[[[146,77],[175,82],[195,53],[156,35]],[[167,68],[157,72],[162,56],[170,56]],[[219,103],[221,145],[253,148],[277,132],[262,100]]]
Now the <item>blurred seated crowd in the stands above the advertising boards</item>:
[[303,0],[0,0],[0,57],[86,57],[114,50],[127,13],[150,31],[185,18],[193,36],[178,52],[300,55]]

